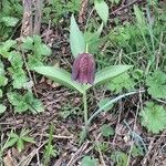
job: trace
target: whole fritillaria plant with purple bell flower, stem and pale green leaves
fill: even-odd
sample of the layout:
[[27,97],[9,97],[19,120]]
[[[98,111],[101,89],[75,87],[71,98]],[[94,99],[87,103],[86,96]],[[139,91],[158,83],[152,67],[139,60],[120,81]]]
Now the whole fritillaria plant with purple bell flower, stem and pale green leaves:
[[[94,38],[100,38],[101,30],[103,24],[100,27],[98,31],[94,33]],[[123,72],[127,71],[132,68],[132,65],[111,65],[106,69],[95,72],[95,60],[94,56],[89,53],[87,48],[91,46],[93,43],[93,39],[91,41],[86,41],[84,39],[83,33],[80,31],[74,17],[71,17],[71,27],[70,27],[70,45],[73,56],[75,58],[72,73],[55,66],[38,66],[34,68],[40,74],[65,85],[72,90],[76,90],[83,95],[83,105],[84,105],[84,123],[85,129],[87,131],[87,126],[90,125],[91,121],[97,116],[104,107],[108,106],[110,104],[118,101],[120,98],[131,95],[133,93],[128,93],[125,95],[121,95],[111,102],[106,103],[103,108],[95,111],[91,117],[89,118],[87,113],[87,91],[91,87],[105,84],[112,77],[122,74]]]

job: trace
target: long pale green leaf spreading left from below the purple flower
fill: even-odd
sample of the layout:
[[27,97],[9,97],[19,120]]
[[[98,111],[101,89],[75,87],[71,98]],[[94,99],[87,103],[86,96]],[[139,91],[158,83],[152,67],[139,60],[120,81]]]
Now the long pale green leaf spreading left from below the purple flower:
[[54,66],[38,66],[34,68],[34,71],[55,81],[56,83],[69,86],[71,89],[75,89],[81,93],[83,93],[84,91],[82,85],[72,81],[71,74],[62,69],[54,68]]

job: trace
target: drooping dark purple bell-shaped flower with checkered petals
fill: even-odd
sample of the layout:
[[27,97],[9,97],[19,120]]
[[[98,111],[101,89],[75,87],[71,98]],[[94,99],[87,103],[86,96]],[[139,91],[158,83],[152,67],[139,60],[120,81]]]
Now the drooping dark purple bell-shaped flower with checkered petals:
[[79,83],[93,84],[95,77],[95,61],[92,54],[81,53],[77,55],[72,68],[72,80]]

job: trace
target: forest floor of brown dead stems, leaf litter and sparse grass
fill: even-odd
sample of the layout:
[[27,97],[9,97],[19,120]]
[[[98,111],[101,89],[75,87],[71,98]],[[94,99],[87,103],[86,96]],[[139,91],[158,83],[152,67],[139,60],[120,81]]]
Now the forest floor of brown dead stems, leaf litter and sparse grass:
[[[136,22],[134,19],[134,6],[139,7],[146,15],[147,2],[143,0],[123,0],[121,2],[117,0],[114,6],[110,6],[111,1],[105,2],[111,9],[107,24],[102,32],[100,51],[95,54],[97,70],[113,64],[132,64],[136,70],[144,72],[148,63],[148,58],[145,55],[147,54],[146,45],[143,38],[138,38],[141,35],[138,28],[133,31],[132,25],[135,25]],[[22,6],[21,2],[19,3]],[[42,11],[44,17],[40,20],[39,35],[42,37],[42,42],[52,50],[51,55],[46,58],[44,63],[71,71],[74,59],[69,43],[70,17],[74,11],[80,29],[84,30],[86,18],[93,9],[93,3],[91,1],[86,10],[83,10],[82,6],[81,9],[84,11],[82,14],[82,10],[76,10],[76,4],[74,7],[71,4],[70,7],[68,3],[69,7],[65,9],[66,11],[69,10],[68,13],[61,14],[61,11],[54,11],[55,7],[53,6],[58,4],[48,4],[46,1],[44,3]],[[166,18],[166,2],[159,1],[156,3],[149,6],[152,9],[151,15],[153,21],[156,21],[156,18],[157,21],[159,20],[160,24],[157,22],[158,27],[154,28],[154,35],[157,39],[156,41],[160,41],[163,44],[156,42],[155,53],[158,55],[162,50],[159,52],[160,56],[156,58],[159,62],[156,60],[157,62],[155,61],[151,70],[154,71],[155,66],[157,66],[157,69],[165,72],[166,29],[164,28],[166,19],[163,19],[162,15]],[[61,2],[59,6],[62,6]],[[52,10],[52,13],[49,9]],[[49,13],[48,15],[46,12]],[[59,18],[54,22],[55,17]],[[22,17],[19,19],[20,22],[25,23],[22,18],[23,11]],[[98,20],[97,13],[93,12],[89,22],[90,29],[94,30],[98,25]],[[12,28],[14,32],[9,32],[11,39],[19,41],[22,38],[21,35],[25,35],[25,25],[18,23],[17,27]],[[149,44],[151,38],[148,34],[146,37]],[[125,43],[127,44],[125,45]],[[152,44],[149,44],[149,49],[152,49]],[[149,73],[152,72],[151,70]],[[132,70],[128,72],[129,75],[133,74],[132,72]],[[166,129],[160,129],[157,134],[148,132],[148,127],[142,125],[139,115],[146,102],[153,101],[165,106],[166,101],[164,97],[155,100],[148,94],[145,76],[132,83],[134,89],[131,89],[131,86],[127,89],[126,84],[131,84],[132,81],[127,80],[128,82],[125,82],[126,80],[124,79],[122,82],[117,81],[114,91],[107,90],[105,85],[90,90],[87,93],[89,116],[103,104],[101,101],[105,102],[133,90],[138,93],[120,100],[108,107],[106,112],[102,112],[92,122],[87,138],[80,144],[80,134],[84,126],[82,96],[60,83],[55,83],[34,72],[31,73],[35,82],[33,94],[42,101],[44,112],[39,114],[31,114],[30,112],[14,113],[13,106],[8,106],[8,100],[3,98],[7,111],[0,114],[0,165],[166,166]],[[116,87],[122,89],[122,91],[116,93]],[[11,87],[9,86],[9,89]],[[144,91],[143,93],[141,92],[142,90]],[[18,91],[24,93],[23,90]],[[104,128],[104,126],[106,127]],[[21,153],[19,153],[17,146],[19,143],[11,143],[11,146],[3,148],[3,145],[11,139],[9,133],[12,131],[19,134],[22,129],[29,129],[28,135],[35,143],[19,145],[23,146]]]

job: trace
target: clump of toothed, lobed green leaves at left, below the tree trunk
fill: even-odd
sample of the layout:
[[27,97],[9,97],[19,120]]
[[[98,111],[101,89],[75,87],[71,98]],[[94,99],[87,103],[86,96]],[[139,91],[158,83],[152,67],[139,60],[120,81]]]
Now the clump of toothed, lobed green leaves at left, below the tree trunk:
[[44,110],[32,93],[30,70],[43,65],[44,58],[50,54],[50,48],[38,35],[28,37],[21,43],[15,40],[0,43],[0,114],[7,108],[4,98],[17,113],[30,111],[35,114]]

